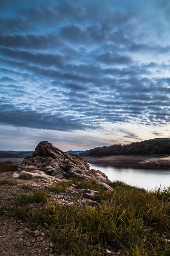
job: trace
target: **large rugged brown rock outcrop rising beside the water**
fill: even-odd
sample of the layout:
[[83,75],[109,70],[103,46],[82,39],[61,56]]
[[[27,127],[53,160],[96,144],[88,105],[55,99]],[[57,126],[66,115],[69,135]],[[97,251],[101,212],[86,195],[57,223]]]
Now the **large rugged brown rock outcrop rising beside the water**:
[[59,181],[75,177],[78,180],[109,181],[104,173],[90,170],[89,164],[79,155],[62,152],[48,141],[40,142],[32,155],[26,157],[18,166],[18,171],[23,179]]

